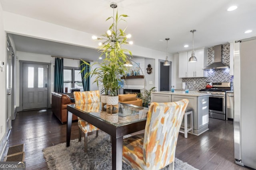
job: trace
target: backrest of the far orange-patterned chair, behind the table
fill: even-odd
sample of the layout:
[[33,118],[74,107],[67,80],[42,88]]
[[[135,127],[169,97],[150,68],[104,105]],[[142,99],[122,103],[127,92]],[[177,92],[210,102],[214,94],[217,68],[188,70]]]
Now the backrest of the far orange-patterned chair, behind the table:
[[75,104],[100,102],[100,91],[73,92]]

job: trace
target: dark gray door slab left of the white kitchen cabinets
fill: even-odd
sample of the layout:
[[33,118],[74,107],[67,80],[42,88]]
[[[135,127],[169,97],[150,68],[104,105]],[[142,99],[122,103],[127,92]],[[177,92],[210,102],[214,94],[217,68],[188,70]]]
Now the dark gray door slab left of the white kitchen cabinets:
[[160,91],[169,91],[169,66],[160,62]]

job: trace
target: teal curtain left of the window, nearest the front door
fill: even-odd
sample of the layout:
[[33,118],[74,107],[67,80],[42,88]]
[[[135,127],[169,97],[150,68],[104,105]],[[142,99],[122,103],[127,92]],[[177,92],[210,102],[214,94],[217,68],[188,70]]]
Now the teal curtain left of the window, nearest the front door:
[[63,59],[55,58],[54,92],[63,93]]

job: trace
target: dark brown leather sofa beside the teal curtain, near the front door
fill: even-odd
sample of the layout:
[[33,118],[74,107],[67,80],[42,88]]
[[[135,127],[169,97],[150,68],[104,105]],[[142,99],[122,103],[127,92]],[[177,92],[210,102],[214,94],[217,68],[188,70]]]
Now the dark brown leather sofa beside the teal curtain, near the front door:
[[[62,124],[67,122],[68,104],[75,104],[71,102],[71,99],[68,95],[52,92],[52,113],[58,117]],[[77,116],[73,115],[72,120],[77,120]]]

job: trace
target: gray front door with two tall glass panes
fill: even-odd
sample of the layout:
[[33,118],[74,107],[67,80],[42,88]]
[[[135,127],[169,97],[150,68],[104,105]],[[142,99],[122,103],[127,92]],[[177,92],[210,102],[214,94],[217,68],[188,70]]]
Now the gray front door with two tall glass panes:
[[48,65],[23,63],[23,110],[48,107]]

